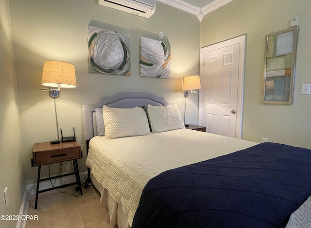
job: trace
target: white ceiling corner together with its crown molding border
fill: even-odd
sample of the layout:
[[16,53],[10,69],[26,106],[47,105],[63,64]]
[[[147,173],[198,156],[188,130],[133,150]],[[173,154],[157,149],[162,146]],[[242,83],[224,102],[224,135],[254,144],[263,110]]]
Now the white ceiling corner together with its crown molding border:
[[157,0],[177,9],[197,15],[201,21],[204,15],[218,9],[232,0]]

